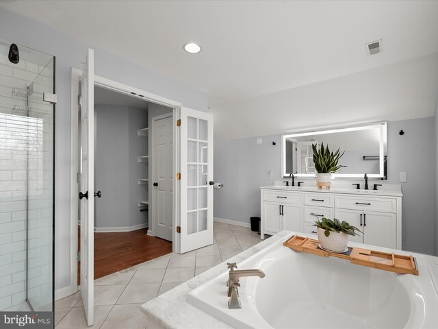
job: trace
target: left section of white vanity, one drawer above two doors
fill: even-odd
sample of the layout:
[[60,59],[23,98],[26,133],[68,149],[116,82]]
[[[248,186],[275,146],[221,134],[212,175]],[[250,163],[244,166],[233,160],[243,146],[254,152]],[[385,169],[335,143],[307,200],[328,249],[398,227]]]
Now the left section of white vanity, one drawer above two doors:
[[[281,230],[301,232],[302,194],[285,191],[261,191],[261,239],[264,234]],[[269,219],[263,221],[263,219]]]

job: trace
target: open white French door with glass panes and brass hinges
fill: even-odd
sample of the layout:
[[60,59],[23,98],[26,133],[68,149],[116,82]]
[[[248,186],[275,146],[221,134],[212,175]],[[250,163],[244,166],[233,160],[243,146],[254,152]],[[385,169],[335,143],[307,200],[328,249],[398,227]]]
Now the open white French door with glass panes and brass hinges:
[[181,108],[179,252],[213,243],[213,115]]

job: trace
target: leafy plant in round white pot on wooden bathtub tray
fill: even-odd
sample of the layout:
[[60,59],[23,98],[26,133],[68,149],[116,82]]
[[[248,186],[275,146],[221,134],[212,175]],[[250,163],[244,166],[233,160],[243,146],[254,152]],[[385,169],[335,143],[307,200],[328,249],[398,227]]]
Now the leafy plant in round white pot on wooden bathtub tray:
[[347,243],[348,236],[359,235],[356,233],[361,232],[359,228],[351,226],[346,221],[339,221],[338,219],[322,218],[315,221],[318,228],[318,241],[320,241],[320,247],[328,252],[346,252],[348,251]]

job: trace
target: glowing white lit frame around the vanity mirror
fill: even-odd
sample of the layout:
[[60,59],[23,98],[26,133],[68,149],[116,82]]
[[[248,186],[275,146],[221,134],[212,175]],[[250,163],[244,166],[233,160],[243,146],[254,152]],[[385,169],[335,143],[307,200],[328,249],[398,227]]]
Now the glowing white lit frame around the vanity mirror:
[[[285,144],[286,138],[308,136],[308,135],[320,135],[320,134],[333,134],[335,132],[353,132],[357,130],[367,130],[370,128],[380,129],[380,141],[379,141],[379,173],[368,174],[369,178],[381,178],[385,180],[387,173],[385,172],[385,149],[387,147],[387,123],[386,121],[376,123],[363,123],[361,125],[350,125],[343,127],[326,127],[319,128],[318,130],[304,130],[300,132],[288,132],[281,134],[281,177],[289,178],[290,173],[286,173],[286,156],[285,156]],[[363,178],[365,173],[332,173],[332,178]],[[300,178],[315,178],[314,173],[294,173],[295,177]]]

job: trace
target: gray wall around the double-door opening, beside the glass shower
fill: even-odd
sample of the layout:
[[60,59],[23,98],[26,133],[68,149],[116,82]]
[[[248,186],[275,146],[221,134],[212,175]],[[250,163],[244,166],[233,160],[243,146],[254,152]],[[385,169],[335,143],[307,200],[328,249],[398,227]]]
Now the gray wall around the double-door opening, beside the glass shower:
[[0,10],[0,38],[56,56],[55,289],[70,285],[70,89],[71,67],[81,68],[94,48],[95,73],[207,111],[207,93],[127,62],[24,16]]

